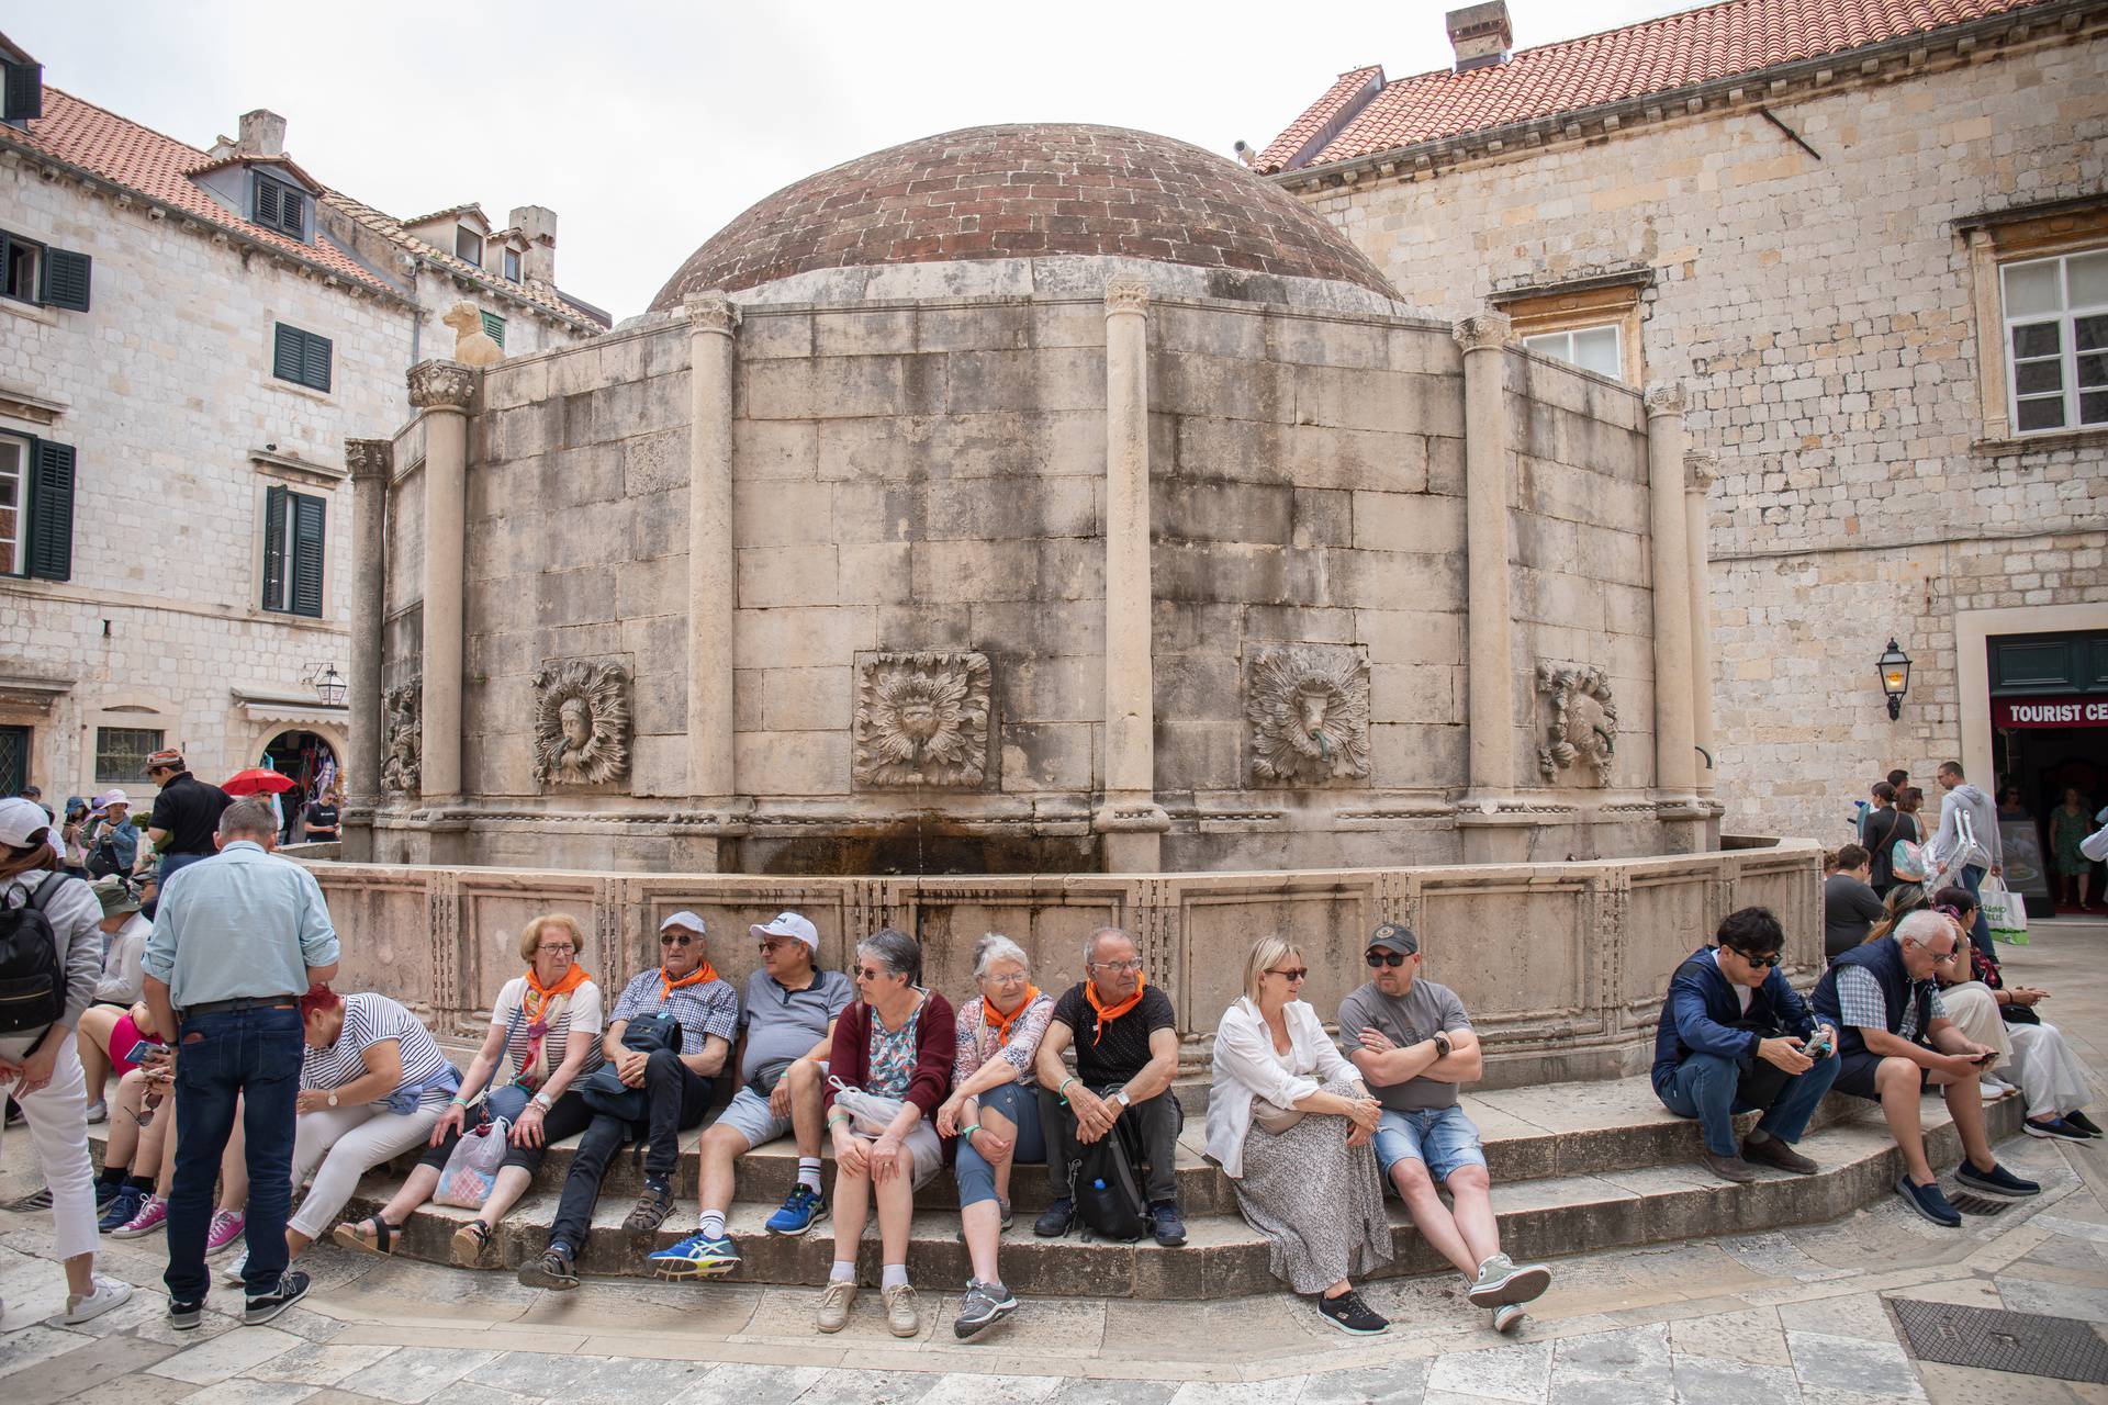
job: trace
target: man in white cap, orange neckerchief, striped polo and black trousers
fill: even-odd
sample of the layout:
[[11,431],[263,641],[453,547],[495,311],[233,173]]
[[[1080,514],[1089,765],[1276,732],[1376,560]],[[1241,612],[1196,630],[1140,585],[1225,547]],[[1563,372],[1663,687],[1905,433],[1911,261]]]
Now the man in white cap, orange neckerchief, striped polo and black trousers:
[[[622,990],[601,1036],[607,1064],[580,1083],[580,1097],[594,1108],[571,1154],[557,1220],[548,1226],[548,1247],[542,1258],[521,1266],[519,1281],[527,1287],[578,1287],[578,1251],[586,1247],[592,1226],[592,1205],[601,1199],[607,1163],[630,1140],[635,1123],[645,1135],[645,1192],[637,1209],[622,1222],[624,1232],[651,1234],[672,1213],[672,1173],[681,1163],[681,1131],[702,1121],[710,1110],[713,1079],[731,1053],[731,1034],[740,1024],[740,996],[717,975],[702,946],[704,925],[694,912],[675,912],[660,923],[660,965],[641,971]],[[641,1049],[626,1041],[630,1026],[649,1032],[672,1022],[679,1026],[675,1047]],[[620,1087],[613,1087],[620,1083]],[[643,1112],[616,1114],[605,1110],[609,1093],[635,1089],[643,1093]]]

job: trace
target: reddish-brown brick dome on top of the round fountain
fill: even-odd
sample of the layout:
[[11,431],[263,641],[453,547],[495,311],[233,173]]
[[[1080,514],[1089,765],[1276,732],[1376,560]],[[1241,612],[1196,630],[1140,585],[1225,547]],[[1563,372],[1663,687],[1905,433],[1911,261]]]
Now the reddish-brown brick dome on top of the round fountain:
[[778,190],[689,255],[653,312],[833,268],[1111,255],[1324,278],[1395,299],[1294,196],[1170,137],[1119,126],[970,126]]

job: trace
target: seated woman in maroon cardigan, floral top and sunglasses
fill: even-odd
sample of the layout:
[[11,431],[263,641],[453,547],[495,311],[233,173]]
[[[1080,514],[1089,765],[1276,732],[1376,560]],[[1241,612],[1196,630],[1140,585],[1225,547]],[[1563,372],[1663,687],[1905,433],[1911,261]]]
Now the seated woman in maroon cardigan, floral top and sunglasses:
[[[923,990],[921,948],[881,927],[856,946],[858,1001],[835,1022],[828,1051],[826,1131],[835,1140],[835,1266],[820,1293],[820,1331],[841,1331],[856,1302],[856,1245],[879,1201],[879,1291],[896,1338],[921,1331],[909,1285],[915,1190],[944,1163],[932,1119],[951,1085],[957,1022],[951,1003]],[[847,1097],[858,1091],[864,1097]],[[868,1106],[873,1100],[877,1108]],[[847,1106],[843,1106],[847,1104]],[[898,1110],[892,1110],[898,1104]]]

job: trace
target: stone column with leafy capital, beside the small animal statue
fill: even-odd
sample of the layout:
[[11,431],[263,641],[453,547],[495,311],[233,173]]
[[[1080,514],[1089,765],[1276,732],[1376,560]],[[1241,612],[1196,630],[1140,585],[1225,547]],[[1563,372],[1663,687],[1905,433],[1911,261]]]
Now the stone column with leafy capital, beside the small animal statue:
[[[462,562],[468,518],[468,407],[476,371],[457,360],[409,369],[409,402],[424,411],[424,754],[426,807],[462,796]],[[432,862],[449,862],[434,836]]]

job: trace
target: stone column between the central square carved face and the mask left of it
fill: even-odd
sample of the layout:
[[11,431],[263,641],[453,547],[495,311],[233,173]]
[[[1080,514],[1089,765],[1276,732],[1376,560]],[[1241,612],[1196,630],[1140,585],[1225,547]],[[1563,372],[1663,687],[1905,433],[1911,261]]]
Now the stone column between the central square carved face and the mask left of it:
[[[723,293],[687,299],[687,790],[700,815],[683,862],[708,872],[738,794],[734,773],[731,619],[738,571],[731,541],[731,373],[740,308]],[[729,826],[736,828],[736,826]]]

